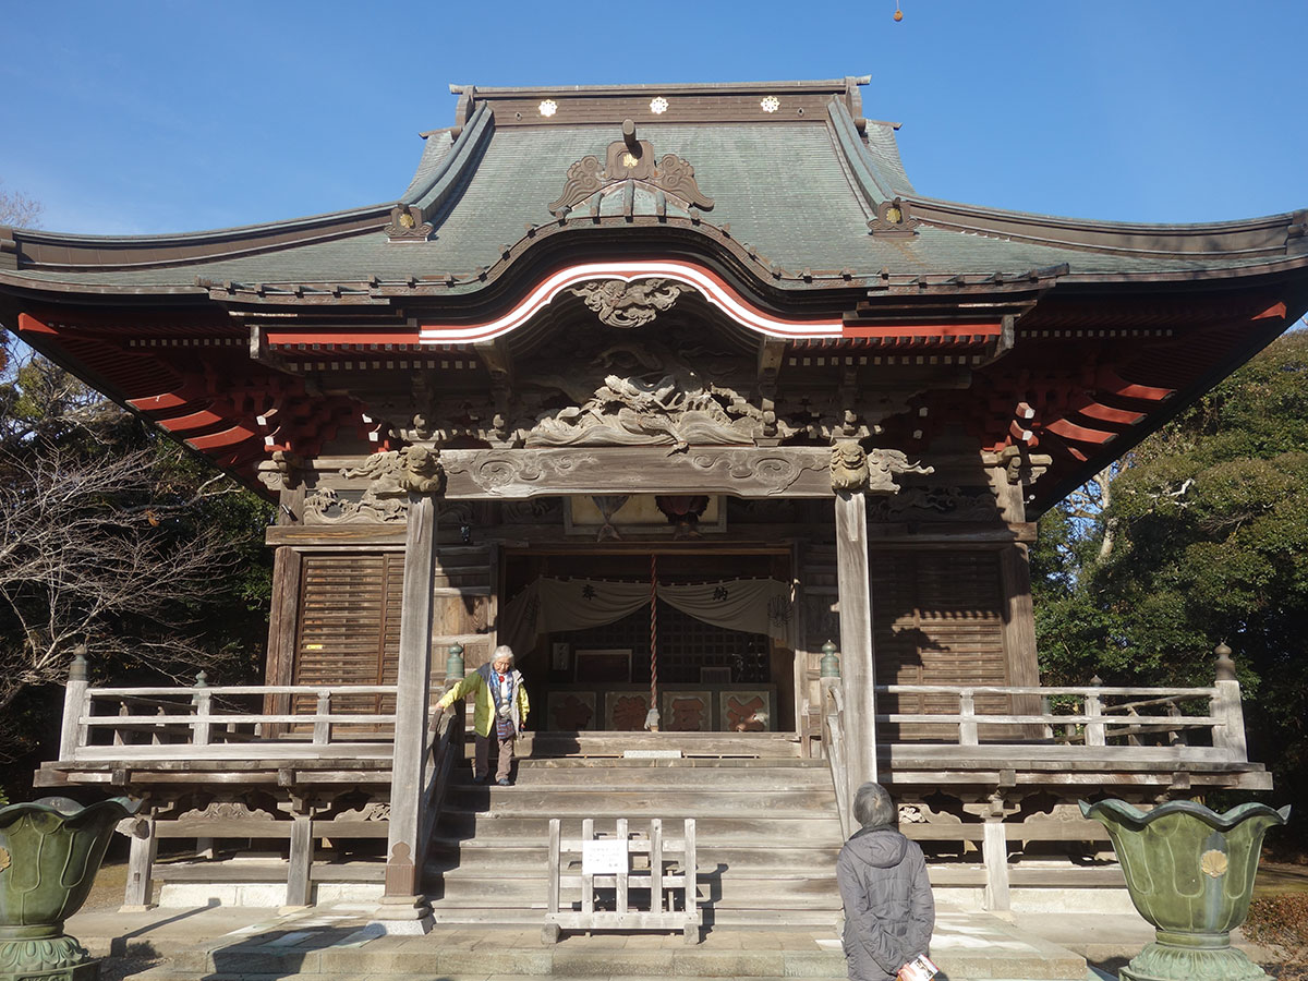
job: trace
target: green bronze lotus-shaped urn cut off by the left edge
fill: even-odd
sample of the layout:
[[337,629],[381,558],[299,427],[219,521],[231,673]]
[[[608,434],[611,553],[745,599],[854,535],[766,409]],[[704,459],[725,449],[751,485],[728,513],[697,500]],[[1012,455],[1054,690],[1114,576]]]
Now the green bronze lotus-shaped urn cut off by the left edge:
[[0,981],[98,976],[99,961],[64,934],[64,920],[86,901],[114,825],[140,808],[122,797],[0,807]]

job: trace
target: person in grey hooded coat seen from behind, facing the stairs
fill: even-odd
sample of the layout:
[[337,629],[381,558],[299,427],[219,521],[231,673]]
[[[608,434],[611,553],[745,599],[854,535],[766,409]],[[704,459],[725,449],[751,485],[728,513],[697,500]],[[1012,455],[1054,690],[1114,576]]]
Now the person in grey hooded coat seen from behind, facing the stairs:
[[879,783],[863,783],[854,794],[854,820],[862,831],[836,859],[845,961],[850,981],[891,981],[931,943],[935,901],[926,858],[895,828],[895,804]]

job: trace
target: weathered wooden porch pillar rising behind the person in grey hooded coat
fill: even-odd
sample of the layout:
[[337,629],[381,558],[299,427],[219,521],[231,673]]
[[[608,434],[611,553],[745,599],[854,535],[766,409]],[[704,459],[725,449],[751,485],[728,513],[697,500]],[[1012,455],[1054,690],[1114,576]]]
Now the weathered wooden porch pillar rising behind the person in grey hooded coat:
[[840,589],[841,678],[849,799],[876,780],[876,671],[872,661],[872,600],[867,569],[867,502],[861,490],[836,493],[836,582]]

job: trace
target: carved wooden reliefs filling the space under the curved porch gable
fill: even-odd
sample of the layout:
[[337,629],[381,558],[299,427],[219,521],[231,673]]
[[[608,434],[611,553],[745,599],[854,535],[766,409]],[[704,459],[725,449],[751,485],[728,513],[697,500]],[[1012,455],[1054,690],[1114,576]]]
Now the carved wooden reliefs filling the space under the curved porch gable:
[[[802,439],[869,439],[886,419],[906,412],[925,382],[901,387],[840,385],[778,388],[730,343],[706,335],[702,323],[664,314],[658,340],[640,330],[672,306],[679,284],[596,281],[574,290],[608,323],[632,330],[612,344],[591,324],[560,324],[531,370],[511,385],[451,390],[434,379],[415,382],[412,400],[382,407],[408,417],[399,434],[436,446],[657,446],[777,445]],[[608,339],[612,335],[607,335]],[[606,345],[607,344],[607,345]],[[719,349],[709,345],[718,344]],[[420,379],[421,381],[421,379]]]

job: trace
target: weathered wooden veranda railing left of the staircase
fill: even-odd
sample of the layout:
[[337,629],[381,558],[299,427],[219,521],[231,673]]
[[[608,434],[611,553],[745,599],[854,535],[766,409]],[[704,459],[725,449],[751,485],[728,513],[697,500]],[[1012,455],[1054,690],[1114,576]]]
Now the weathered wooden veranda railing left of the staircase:
[[[266,712],[267,696],[313,712]],[[69,678],[59,759],[388,760],[395,712],[360,712],[361,700],[394,705],[395,685],[207,685],[92,688]]]

